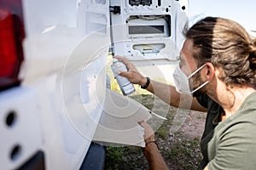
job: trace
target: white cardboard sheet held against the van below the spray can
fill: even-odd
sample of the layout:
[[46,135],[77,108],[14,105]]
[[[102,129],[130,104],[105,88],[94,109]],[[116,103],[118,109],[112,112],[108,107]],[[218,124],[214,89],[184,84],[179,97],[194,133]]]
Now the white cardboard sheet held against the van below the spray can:
[[138,122],[150,119],[150,112],[137,101],[107,89],[102,117],[93,140],[144,147],[144,129]]

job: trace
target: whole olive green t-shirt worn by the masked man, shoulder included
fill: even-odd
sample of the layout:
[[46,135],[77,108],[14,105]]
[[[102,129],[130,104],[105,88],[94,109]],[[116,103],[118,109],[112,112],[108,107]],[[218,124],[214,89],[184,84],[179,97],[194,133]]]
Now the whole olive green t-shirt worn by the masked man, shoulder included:
[[256,92],[235,114],[218,123],[207,152],[210,170],[256,168]]

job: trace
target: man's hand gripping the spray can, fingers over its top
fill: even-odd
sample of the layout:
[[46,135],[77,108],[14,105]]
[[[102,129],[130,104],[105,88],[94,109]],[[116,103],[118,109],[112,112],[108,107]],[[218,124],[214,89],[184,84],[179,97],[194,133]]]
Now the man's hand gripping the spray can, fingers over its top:
[[143,77],[143,75],[137,71],[137,68],[131,63],[131,61],[121,56],[114,56],[113,58],[123,61],[128,68],[128,71],[120,72],[119,76],[128,78],[128,80],[133,84],[138,84],[140,86],[144,86],[146,84],[147,78]]

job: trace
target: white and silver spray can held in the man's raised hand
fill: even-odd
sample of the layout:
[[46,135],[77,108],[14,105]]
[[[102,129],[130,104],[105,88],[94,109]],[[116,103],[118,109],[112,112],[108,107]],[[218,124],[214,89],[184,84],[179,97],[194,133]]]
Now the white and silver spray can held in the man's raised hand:
[[133,84],[126,77],[121,77],[118,74],[118,72],[128,71],[126,65],[121,60],[113,59],[111,69],[113,71],[114,77],[119,84],[119,88],[124,95],[129,95],[135,92]]

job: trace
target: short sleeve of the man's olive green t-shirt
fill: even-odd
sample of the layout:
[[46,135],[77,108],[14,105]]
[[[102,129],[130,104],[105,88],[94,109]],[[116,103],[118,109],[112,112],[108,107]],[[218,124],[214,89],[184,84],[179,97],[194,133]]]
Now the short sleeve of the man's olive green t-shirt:
[[216,150],[214,150],[216,153],[212,161],[208,163],[208,169],[255,169],[255,132],[256,126],[252,122],[236,122],[227,128],[219,135]]

